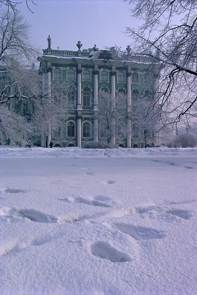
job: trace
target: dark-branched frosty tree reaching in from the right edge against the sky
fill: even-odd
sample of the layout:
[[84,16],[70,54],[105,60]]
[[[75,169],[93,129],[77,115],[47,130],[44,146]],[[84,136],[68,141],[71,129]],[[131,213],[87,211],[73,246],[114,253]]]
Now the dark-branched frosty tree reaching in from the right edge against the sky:
[[[177,127],[194,122],[197,101],[197,2],[195,0],[125,0],[132,4],[132,17],[140,27],[127,27],[132,43],[124,55],[153,58],[158,67],[160,86],[155,87],[155,103],[162,126]],[[121,50],[117,50],[122,54]],[[153,80],[155,71],[150,65]],[[155,109],[156,111],[156,109]],[[148,117],[148,113],[146,117]]]

